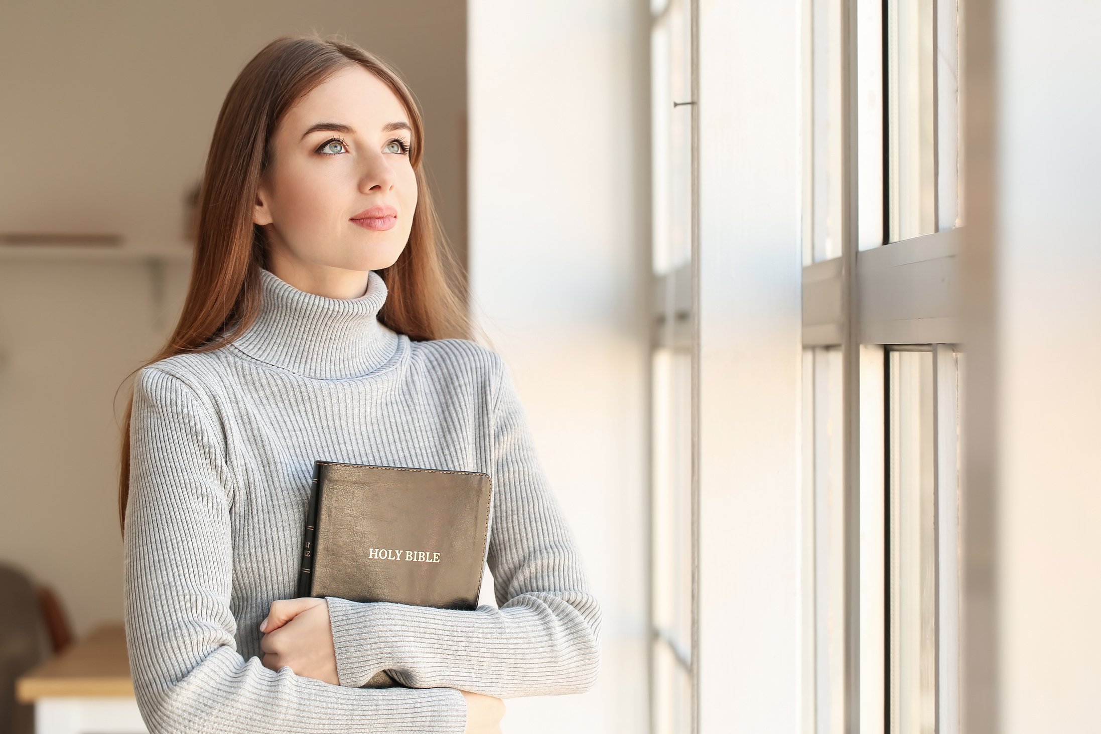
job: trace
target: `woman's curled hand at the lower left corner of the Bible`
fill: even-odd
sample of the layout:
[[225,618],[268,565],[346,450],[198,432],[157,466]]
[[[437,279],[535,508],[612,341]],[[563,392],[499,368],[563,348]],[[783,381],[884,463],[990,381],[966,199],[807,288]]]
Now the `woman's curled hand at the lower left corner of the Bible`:
[[296,676],[340,684],[329,605],[324,599],[276,600],[260,624],[260,631],[265,633],[260,640],[265,668],[279,670],[291,666]]

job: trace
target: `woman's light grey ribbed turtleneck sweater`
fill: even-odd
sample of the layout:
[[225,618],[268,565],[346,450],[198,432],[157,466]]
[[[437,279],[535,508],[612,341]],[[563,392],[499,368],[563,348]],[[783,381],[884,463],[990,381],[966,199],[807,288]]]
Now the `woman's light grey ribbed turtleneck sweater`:
[[[460,690],[588,690],[600,606],[502,359],[383,326],[373,271],[350,299],[261,276],[235,342],[134,382],[126,631],[150,731],[461,733]],[[489,473],[498,606],[327,596],[340,684],[265,668],[259,624],[296,595],[315,459]],[[359,688],[383,669],[411,688]]]

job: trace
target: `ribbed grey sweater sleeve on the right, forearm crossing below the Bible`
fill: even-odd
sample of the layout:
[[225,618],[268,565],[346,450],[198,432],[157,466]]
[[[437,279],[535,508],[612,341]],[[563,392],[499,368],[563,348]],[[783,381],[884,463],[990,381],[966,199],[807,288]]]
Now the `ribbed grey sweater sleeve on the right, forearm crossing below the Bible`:
[[510,698],[579,693],[600,667],[600,616],[535,452],[508,366],[492,353],[493,513],[487,562],[500,609],[442,610],[327,596],[341,686],[379,670],[415,688]]

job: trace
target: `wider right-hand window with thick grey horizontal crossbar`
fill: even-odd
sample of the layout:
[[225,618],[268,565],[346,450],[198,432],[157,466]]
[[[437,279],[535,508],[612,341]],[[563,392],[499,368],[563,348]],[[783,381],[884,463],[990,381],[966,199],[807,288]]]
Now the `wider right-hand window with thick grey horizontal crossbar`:
[[956,0],[804,4],[817,734],[959,730],[957,13]]

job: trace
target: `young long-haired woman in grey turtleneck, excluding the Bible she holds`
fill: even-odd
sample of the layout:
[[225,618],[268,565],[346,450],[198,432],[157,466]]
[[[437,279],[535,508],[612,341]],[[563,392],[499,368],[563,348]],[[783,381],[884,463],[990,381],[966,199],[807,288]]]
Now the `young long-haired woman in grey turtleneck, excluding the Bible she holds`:
[[[501,358],[468,338],[406,86],[279,39],[215,127],[187,297],[122,435],[130,668],[151,732],[499,732],[588,690],[600,606]],[[315,459],[484,471],[498,606],[296,599]],[[360,688],[379,670],[407,688]]]

